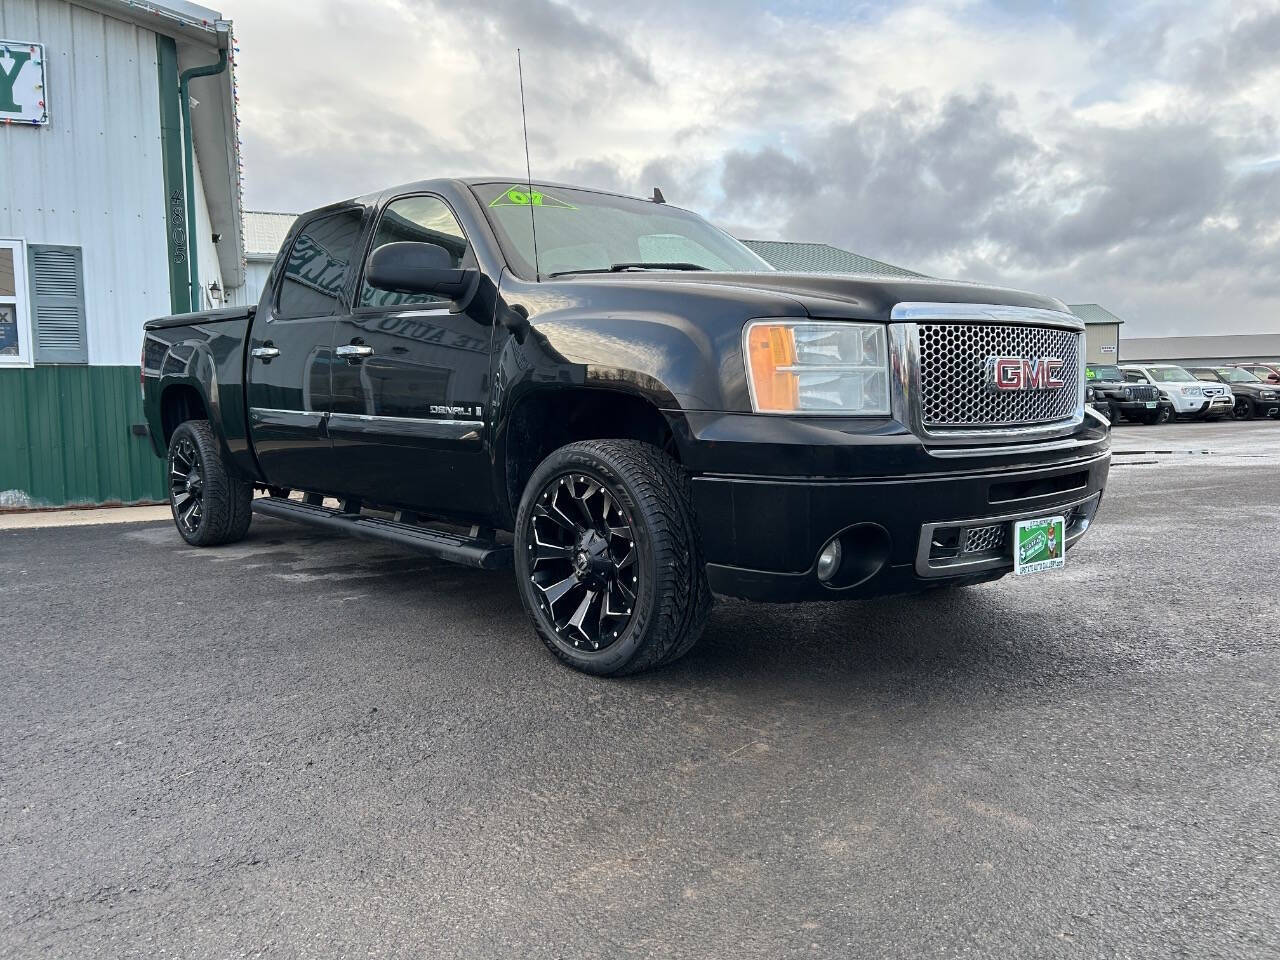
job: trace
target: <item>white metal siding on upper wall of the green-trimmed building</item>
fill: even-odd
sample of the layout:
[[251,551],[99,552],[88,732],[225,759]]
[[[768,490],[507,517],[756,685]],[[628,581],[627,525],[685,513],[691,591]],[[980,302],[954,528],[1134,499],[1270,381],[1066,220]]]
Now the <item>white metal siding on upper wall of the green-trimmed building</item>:
[[137,364],[142,321],[169,312],[155,33],[0,0],[0,37],[45,45],[50,118],[0,124],[0,237],[82,247],[90,362]]

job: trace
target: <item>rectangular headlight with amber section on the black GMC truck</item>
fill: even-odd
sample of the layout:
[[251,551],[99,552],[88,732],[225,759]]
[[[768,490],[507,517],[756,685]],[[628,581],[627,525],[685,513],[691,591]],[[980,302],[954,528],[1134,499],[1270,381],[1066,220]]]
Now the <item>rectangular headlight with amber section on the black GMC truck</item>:
[[756,413],[888,416],[882,324],[754,320],[742,353]]

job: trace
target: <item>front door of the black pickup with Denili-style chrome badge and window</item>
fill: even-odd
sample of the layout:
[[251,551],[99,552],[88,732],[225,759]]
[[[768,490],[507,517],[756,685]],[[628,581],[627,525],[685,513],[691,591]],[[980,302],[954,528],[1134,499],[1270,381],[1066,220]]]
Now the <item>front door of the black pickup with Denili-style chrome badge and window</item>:
[[[433,195],[387,204],[369,252],[396,241],[436,243],[454,266],[475,266],[457,218]],[[374,289],[361,276],[355,308],[334,330],[329,419],[351,493],[456,520],[492,516],[490,320],[440,297]]]

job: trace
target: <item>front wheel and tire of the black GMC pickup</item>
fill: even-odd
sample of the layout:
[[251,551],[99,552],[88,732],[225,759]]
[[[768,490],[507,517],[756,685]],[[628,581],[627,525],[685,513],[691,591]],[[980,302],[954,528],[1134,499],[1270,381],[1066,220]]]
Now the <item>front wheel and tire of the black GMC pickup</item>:
[[637,440],[561,447],[525,486],[516,579],[538,635],[575,669],[678,659],[712,607],[689,476]]

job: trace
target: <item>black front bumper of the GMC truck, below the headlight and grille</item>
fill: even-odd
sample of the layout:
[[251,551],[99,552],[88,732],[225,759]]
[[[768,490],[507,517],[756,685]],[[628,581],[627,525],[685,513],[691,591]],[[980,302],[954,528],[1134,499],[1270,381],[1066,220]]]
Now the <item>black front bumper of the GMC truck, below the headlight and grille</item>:
[[[1084,534],[1110,461],[1103,448],[1052,466],[925,476],[695,476],[707,575],[716,593],[773,602],[996,580],[1014,567],[1014,521],[1065,515],[1068,545]],[[817,557],[837,535],[845,559],[831,585],[818,579]]]

